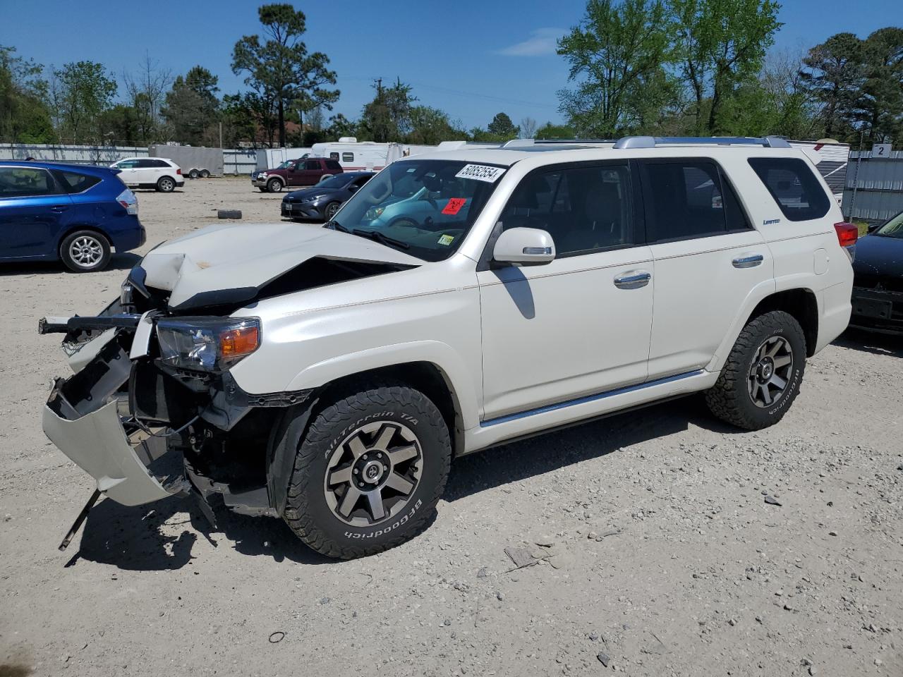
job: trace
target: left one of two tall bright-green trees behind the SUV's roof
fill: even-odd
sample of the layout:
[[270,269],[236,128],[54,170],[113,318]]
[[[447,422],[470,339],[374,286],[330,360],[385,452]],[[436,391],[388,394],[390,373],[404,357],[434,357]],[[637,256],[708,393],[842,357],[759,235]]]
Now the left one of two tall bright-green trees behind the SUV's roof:
[[560,110],[582,136],[608,138],[638,128],[650,88],[666,81],[672,36],[661,0],[588,0],[581,23],[558,41],[574,89]]

